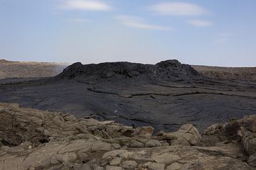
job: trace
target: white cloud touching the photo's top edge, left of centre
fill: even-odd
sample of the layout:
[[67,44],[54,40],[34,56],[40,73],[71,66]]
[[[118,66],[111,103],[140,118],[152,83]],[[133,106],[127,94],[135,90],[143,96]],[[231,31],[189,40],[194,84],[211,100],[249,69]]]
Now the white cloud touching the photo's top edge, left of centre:
[[64,9],[83,11],[111,11],[112,7],[97,0],[67,0],[61,6]]

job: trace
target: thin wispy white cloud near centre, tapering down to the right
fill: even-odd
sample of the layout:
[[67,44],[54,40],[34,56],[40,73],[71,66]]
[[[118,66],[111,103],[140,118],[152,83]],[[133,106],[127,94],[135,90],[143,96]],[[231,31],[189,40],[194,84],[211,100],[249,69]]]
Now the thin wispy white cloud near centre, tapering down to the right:
[[125,26],[139,29],[148,29],[148,30],[173,30],[171,27],[166,26],[156,26],[144,23],[144,19],[137,16],[117,16],[115,17]]

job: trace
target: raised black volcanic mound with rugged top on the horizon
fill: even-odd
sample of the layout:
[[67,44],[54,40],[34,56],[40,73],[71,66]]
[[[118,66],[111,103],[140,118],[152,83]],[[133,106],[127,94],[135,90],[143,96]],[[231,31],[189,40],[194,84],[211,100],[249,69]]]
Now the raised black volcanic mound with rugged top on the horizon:
[[153,64],[106,62],[100,64],[70,65],[57,79],[137,79],[137,81],[186,81],[201,79],[200,74],[188,64],[166,60]]

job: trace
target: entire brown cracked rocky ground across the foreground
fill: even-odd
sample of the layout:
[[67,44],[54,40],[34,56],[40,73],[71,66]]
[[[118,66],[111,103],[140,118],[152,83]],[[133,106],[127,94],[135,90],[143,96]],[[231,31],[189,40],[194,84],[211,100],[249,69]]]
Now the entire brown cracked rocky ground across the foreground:
[[1,170],[256,169],[256,115],[217,123],[201,135],[0,103]]

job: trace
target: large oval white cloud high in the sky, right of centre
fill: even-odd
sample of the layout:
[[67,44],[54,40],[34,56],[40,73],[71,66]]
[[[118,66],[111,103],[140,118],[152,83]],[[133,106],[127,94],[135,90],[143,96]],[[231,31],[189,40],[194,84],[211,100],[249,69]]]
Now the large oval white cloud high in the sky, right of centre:
[[206,9],[191,3],[166,2],[149,7],[150,11],[160,15],[171,16],[199,16],[207,13]]

